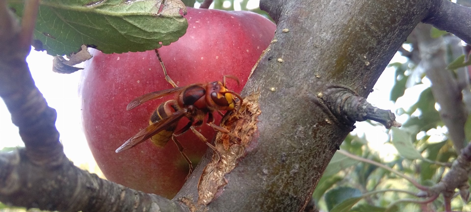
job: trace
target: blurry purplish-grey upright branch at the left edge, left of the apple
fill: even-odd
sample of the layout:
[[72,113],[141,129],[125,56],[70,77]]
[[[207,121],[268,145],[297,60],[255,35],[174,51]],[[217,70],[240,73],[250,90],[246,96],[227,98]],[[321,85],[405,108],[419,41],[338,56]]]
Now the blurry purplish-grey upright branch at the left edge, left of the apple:
[[37,0],[28,1],[25,11],[30,11],[15,24],[16,18],[6,2],[0,1],[0,97],[18,126],[26,152],[34,163],[44,164],[64,158],[55,121],[56,111],[49,106],[34,85],[26,64],[31,49],[32,29],[35,23]]

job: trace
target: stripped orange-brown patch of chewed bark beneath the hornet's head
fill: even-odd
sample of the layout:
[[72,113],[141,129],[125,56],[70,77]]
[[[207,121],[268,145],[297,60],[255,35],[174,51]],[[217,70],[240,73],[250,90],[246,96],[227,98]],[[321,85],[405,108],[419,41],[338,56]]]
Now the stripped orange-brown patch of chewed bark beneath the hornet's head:
[[217,155],[213,155],[211,162],[203,169],[198,182],[198,204],[209,204],[212,199],[223,192],[224,186],[230,183],[224,175],[230,173],[237,165],[238,159],[245,156],[246,147],[257,131],[257,117],[261,113],[258,104],[259,96],[259,94],[252,94],[244,98],[244,104],[239,112],[230,114],[222,120],[221,126],[237,135],[240,140],[235,140],[220,132],[216,135],[215,146],[222,154],[222,159],[219,160]]

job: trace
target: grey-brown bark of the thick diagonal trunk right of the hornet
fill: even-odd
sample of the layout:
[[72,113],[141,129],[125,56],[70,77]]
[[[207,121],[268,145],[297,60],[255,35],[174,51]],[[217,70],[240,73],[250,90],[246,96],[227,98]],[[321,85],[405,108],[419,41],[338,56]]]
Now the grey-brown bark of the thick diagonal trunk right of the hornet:
[[176,198],[194,202],[190,210],[206,205],[208,211],[301,211],[352,129],[330,120],[315,94],[338,84],[365,97],[429,4],[262,0],[260,8],[277,21],[277,30],[242,93],[260,96],[251,148],[223,175],[227,184],[214,199],[197,202],[197,178]]

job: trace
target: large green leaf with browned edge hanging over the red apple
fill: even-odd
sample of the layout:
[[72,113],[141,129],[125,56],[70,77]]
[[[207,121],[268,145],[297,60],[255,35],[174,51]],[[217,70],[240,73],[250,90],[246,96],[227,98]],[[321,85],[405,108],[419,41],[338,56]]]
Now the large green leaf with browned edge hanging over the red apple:
[[[41,0],[34,46],[50,55],[70,55],[81,45],[103,53],[143,52],[183,36],[186,8],[179,0]],[[10,0],[20,17],[23,0]],[[38,49],[39,48],[39,49]]]

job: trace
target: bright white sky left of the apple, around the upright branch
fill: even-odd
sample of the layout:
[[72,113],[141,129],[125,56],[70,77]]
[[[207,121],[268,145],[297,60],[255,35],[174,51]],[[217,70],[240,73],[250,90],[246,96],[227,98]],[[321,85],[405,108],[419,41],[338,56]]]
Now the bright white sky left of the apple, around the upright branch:
[[[91,152],[81,130],[81,105],[78,96],[81,72],[69,75],[52,72],[52,56],[34,50],[26,61],[36,86],[49,106],[57,110],[56,126],[67,156],[78,164],[89,162]],[[18,135],[18,128],[11,123],[11,116],[3,101],[0,101],[0,134],[0,149],[24,145]]]

